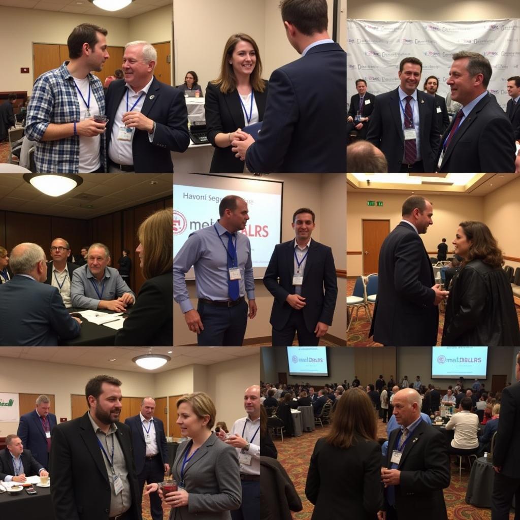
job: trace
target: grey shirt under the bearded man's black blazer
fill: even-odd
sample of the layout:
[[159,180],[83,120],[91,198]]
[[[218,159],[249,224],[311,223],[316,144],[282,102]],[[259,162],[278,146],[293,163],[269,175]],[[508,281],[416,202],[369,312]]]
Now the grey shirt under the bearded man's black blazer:
[[[77,270],[77,269],[76,269]],[[88,413],[88,418],[92,423],[92,427],[94,428],[94,432],[99,442],[102,444],[105,452],[108,457],[112,458],[112,446],[114,447],[114,471],[112,472],[112,468],[110,466],[110,462],[107,460],[107,457],[103,453],[103,450],[99,448],[101,451],[101,457],[103,458],[103,462],[105,462],[105,467],[107,469],[108,480],[110,482],[110,512],[109,516],[117,516],[123,514],[125,511],[130,509],[132,505],[132,495],[130,492],[130,482],[128,480],[128,470],[126,467],[125,456],[123,454],[123,450],[121,449],[121,445],[119,444],[118,436],[115,435],[115,432],[118,431],[118,427],[112,423],[110,425],[109,431],[106,434],[102,432],[100,427],[94,422],[94,419],[90,416],[90,412]],[[119,475],[121,479],[121,484],[123,484],[123,489],[115,494],[114,491],[114,474]]]

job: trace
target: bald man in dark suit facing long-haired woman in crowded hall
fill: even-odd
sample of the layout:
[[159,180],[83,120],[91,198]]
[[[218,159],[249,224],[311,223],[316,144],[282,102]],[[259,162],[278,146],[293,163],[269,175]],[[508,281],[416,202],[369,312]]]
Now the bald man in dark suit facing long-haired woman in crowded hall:
[[378,518],[448,520],[443,489],[450,485],[450,462],[445,437],[421,417],[421,396],[413,388],[394,395],[397,423],[388,439],[385,512]]

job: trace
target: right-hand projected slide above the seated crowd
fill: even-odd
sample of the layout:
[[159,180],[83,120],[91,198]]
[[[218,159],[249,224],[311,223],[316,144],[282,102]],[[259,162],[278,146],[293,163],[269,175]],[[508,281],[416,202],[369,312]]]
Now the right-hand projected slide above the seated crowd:
[[432,347],[432,379],[487,378],[488,347]]

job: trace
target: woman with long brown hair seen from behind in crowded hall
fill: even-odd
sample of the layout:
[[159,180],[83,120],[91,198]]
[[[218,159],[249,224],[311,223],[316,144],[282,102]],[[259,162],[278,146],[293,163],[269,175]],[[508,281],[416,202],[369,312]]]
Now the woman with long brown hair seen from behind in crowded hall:
[[336,405],[328,435],[318,439],[310,458],[305,495],[315,505],[312,520],[376,517],[383,505],[376,432],[370,397],[361,388],[349,388]]

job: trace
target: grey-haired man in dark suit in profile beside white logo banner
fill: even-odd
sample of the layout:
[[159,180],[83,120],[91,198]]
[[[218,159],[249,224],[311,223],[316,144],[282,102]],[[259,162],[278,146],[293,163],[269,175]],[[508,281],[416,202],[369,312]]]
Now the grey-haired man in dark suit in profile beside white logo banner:
[[513,127],[496,99],[487,92],[491,64],[482,54],[453,55],[449,79],[451,98],[461,103],[441,138],[438,172],[515,171]]

